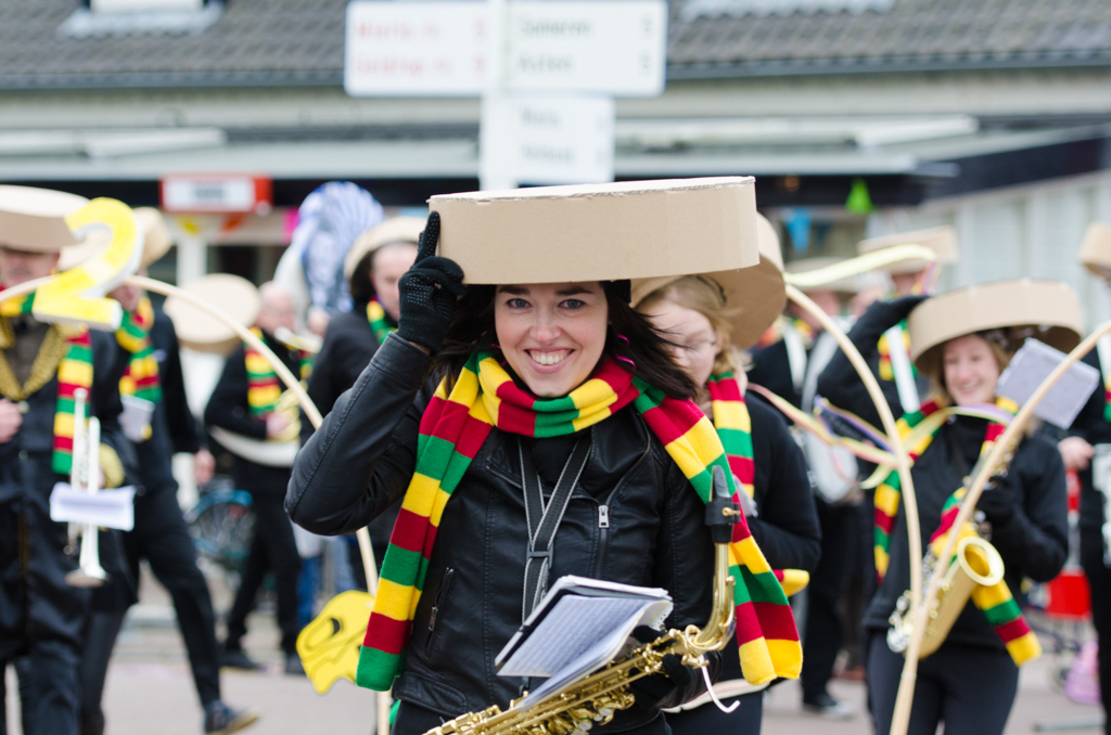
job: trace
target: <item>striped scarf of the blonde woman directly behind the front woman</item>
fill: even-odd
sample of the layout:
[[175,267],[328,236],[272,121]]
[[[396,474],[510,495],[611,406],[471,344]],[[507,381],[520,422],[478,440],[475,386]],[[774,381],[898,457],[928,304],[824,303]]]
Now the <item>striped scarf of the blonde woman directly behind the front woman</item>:
[[[744,394],[732,373],[712,375],[705,384],[713,407],[713,427],[725,450],[729,467],[749,497],[755,495],[755,461],[752,450],[752,419]],[[737,527],[734,526],[734,532]],[[802,570],[773,570],[783,592],[791,596],[810,582]]]

